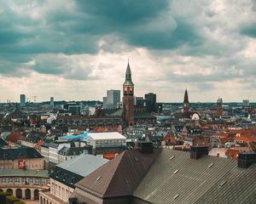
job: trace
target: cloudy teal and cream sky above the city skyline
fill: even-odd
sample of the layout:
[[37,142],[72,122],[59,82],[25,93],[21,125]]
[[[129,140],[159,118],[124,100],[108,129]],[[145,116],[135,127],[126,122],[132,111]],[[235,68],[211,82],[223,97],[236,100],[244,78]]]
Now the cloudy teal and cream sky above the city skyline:
[[0,102],[102,100],[128,58],[137,96],[256,101],[256,1],[0,0]]

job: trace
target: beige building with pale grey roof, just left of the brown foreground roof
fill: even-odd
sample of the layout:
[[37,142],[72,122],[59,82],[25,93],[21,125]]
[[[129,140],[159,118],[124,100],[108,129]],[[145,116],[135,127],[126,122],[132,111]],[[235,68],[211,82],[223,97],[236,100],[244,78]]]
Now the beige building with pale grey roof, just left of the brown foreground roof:
[[67,203],[73,194],[74,184],[107,162],[108,160],[101,157],[83,154],[56,165],[54,172],[49,176],[49,190],[40,192],[40,204]]

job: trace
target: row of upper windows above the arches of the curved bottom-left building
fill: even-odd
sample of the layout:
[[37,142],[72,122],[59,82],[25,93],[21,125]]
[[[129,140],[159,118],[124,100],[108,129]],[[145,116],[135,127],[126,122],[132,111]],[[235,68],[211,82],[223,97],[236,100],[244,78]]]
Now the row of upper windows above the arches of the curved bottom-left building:
[[46,178],[9,177],[1,178],[1,184],[46,184]]

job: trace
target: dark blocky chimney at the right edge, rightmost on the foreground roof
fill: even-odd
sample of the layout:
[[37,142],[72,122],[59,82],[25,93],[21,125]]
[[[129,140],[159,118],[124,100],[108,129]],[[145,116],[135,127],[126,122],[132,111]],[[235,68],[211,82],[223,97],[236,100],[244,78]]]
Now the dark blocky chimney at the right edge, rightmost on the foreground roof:
[[237,166],[241,168],[250,167],[256,163],[256,152],[241,152],[238,153]]

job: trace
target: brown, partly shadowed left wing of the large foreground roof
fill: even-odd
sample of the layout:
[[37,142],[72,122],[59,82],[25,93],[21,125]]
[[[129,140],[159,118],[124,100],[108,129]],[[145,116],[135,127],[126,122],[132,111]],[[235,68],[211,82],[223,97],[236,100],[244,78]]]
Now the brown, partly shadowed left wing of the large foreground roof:
[[154,150],[153,154],[125,150],[95,172],[90,173],[76,186],[101,197],[132,195],[159,153],[160,150]]

